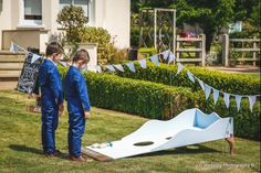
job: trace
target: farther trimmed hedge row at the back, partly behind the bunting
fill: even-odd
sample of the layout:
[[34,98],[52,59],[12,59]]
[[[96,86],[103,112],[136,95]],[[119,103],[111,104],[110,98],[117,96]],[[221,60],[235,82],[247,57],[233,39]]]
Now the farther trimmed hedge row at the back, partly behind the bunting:
[[[147,68],[144,69],[135,63],[135,68],[136,72],[133,73],[127,66],[124,66],[125,72],[116,71],[116,75],[165,85],[189,87],[194,91],[200,90],[198,84],[194,84],[188,79],[186,69],[182,69],[178,75],[176,75],[176,65],[160,64],[159,66],[156,66],[153,63],[147,63]],[[260,79],[250,78],[244,75],[209,71],[200,67],[188,66],[186,68],[202,82],[219,90],[238,95],[260,94]]]

